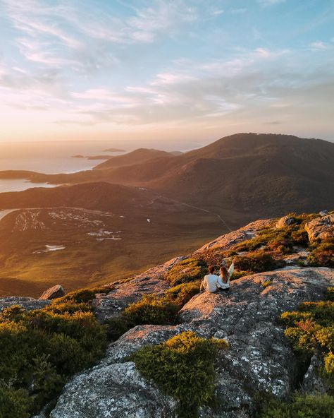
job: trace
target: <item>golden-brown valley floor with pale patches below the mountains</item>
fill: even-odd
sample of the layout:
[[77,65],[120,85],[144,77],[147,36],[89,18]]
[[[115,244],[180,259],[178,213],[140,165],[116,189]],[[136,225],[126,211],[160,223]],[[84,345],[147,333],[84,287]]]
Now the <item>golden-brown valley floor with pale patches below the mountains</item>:
[[116,213],[63,206],[5,213],[0,296],[36,297],[55,283],[71,290],[118,280],[224,230],[215,215],[160,198]]

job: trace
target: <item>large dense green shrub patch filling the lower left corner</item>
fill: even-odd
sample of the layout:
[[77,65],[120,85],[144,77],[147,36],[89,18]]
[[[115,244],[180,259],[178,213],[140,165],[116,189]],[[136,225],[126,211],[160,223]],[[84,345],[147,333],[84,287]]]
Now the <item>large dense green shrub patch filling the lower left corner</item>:
[[39,412],[104,353],[106,332],[92,313],[91,294],[73,293],[44,309],[11,306],[0,315],[1,418]]

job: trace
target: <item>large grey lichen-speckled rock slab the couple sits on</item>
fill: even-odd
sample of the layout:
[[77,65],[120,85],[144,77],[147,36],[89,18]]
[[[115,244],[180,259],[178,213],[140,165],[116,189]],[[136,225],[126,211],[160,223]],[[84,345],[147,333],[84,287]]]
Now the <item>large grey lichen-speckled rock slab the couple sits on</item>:
[[299,383],[278,316],[304,300],[321,299],[329,285],[334,285],[332,269],[305,268],[249,275],[232,282],[229,293],[198,294],[183,307],[178,326],[137,326],[111,344],[97,366],[66,385],[50,417],[174,417],[175,401],[144,381],[128,355],[185,330],[230,344],[216,362],[220,410],[205,407],[200,416],[247,417],[256,393],[284,397]]

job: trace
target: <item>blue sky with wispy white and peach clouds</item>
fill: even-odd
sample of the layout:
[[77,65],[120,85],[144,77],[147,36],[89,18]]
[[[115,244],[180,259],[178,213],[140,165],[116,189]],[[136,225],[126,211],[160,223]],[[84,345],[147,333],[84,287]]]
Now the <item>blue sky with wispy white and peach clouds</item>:
[[0,0],[0,141],[334,141],[334,0]]

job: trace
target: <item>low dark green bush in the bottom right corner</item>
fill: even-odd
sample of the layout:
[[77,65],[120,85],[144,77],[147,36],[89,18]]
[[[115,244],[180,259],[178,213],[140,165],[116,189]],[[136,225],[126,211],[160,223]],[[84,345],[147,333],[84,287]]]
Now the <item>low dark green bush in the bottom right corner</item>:
[[261,418],[333,418],[333,411],[333,396],[296,394],[289,402],[272,400]]

